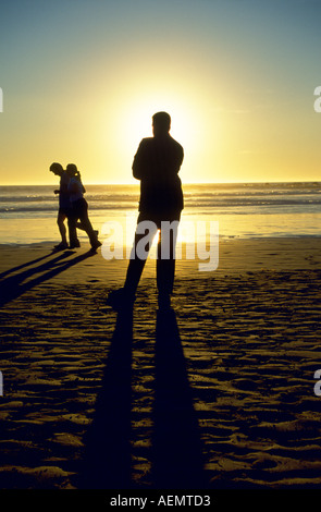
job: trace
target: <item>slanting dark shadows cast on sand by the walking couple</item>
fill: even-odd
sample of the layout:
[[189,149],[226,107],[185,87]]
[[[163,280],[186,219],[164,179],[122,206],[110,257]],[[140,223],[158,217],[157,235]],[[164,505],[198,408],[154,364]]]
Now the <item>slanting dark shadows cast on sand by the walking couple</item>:
[[[96,253],[92,251],[88,251],[87,253],[81,254],[79,256],[75,256],[72,259],[65,259],[69,256],[72,256],[73,254],[75,254],[73,251],[65,251],[64,253],[60,253],[55,258],[50,259],[49,261],[46,261],[42,265],[33,267],[28,270],[24,270],[23,272],[3,279],[0,282],[0,307],[7,304],[8,302],[17,298],[26,291],[32,290],[34,287],[37,287],[38,284],[41,284],[48,279],[51,279],[54,276],[63,272],[64,270],[67,270],[70,267],[73,267],[74,265],[84,261],[84,259],[94,256]],[[52,253],[50,253],[50,255],[52,255]],[[34,260],[29,264],[40,261],[41,259],[44,259],[44,257],[39,258],[38,260]],[[27,265],[28,264],[25,264],[21,266],[21,268]],[[37,277],[32,279],[34,276]]]

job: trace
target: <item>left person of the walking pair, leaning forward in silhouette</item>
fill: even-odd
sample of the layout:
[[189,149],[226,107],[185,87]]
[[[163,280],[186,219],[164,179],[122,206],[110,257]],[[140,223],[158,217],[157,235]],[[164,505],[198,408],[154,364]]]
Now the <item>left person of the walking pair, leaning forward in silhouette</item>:
[[[63,169],[61,163],[53,162],[51,163],[49,168],[50,172],[52,172],[54,175],[60,176],[60,187],[54,191],[54,194],[59,194],[59,209],[58,209],[58,217],[57,217],[57,223],[58,228],[60,231],[61,235],[61,242],[60,244],[55,245],[54,248],[57,249],[64,249],[67,248],[67,241],[66,241],[66,228],[64,225],[64,221],[67,219],[67,224],[70,228],[70,219],[71,219],[71,202],[70,202],[70,194],[67,191],[69,182],[70,182],[70,176],[67,175],[66,171]],[[69,237],[70,237],[70,243],[73,244],[78,244],[78,240],[76,237],[75,233],[71,234],[71,231],[69,230]],[[73,241],[71,240],[73,237]]]

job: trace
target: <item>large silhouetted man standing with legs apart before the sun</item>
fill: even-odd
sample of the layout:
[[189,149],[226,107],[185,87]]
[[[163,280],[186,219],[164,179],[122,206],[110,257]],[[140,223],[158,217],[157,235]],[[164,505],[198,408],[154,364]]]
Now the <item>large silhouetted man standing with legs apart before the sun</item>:
[[[178,176],[184,150],[169,133],[171,118],[166,112],[153,115],[152,129],[153,137],[140,142],[133,162],[133,175],[140,180],[139,215],[124,288],[111,292],[108,297],[108,304],[115,309],[134,303],[148,251],[158,230],[160,231],[157,258],[159,306],[169,308],[171,304],[176,234],[184,207]],[[146,234],[144,222],[148,221]],[[146,246],[144,255],[141,247],[139,249],[143,242]]]

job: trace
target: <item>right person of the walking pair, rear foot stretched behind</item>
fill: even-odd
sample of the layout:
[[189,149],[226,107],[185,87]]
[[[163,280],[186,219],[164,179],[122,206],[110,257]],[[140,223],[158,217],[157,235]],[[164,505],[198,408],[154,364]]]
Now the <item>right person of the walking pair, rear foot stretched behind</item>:
[[71,216],[69,218],[71,248],[79,246],[76,237],[77,220],[79,220],[82,229],[86,231],[89,237],[91,249],[96,251],[100,247],[101,242],[99,242],[97,231],[92,229],[88,217],[88,203],[84,197],[85,187],[82,183],[81,173],[74,163],[69,163],[66,166],[66,174],[70,178],[67,192],[71,202]]

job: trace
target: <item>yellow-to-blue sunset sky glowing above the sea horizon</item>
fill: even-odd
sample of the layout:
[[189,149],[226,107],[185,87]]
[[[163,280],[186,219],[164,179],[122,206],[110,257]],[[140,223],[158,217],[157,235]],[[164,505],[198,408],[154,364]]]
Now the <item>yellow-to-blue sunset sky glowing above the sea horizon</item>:
[[320,179],[311,9],[72,3],[7,8],[0,184],[52,183],[52,161],[76,163],[88,184],[134,183],[158,110],[184,146],[185,183]]

